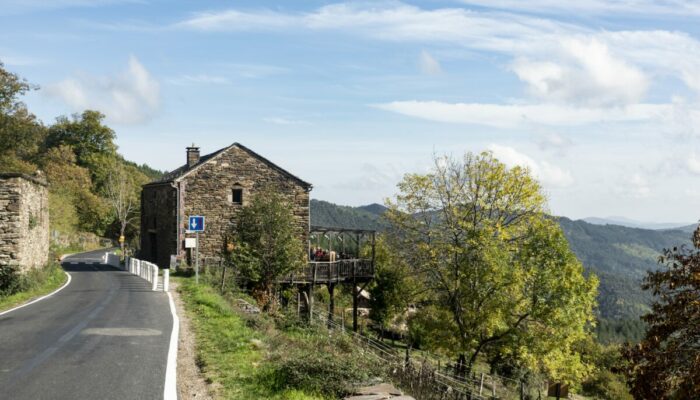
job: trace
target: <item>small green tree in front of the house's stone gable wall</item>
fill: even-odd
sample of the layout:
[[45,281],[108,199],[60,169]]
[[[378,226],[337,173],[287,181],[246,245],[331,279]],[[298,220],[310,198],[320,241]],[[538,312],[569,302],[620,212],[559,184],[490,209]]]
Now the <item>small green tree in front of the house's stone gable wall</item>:
[[274,188],[263,189],[242,208],[231,236],[233,264],[269,309],[275,302],[277,279],[304,265],[292,204]]

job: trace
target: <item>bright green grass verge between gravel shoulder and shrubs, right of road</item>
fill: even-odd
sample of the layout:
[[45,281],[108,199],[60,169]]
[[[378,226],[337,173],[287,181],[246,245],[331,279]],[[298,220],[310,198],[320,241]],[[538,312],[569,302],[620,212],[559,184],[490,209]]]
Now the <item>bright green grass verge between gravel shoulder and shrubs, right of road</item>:
[[216,398],[321,400],[299,390],[276,390],[267,359],[269,334],[254,328],[211,287],[175,277],[197,342],[197,363]]

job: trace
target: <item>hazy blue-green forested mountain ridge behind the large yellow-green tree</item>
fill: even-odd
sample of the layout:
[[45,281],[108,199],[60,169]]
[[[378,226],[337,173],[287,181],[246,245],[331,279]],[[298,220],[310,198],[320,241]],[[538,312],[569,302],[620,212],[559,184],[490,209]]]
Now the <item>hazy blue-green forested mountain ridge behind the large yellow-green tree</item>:
[[[311,224],[381,231],[386,207],[339,206],[321,200],[311,201]],[[636,319],[649,310],[650,296],[641,287],[646,271],[659,267],[664,248],[690,244],[696,225],[676,229],[642,229],[619,224],[593,224],[558,217],[571,250],[586,271],[600,278],[599,313],[610,320]]]

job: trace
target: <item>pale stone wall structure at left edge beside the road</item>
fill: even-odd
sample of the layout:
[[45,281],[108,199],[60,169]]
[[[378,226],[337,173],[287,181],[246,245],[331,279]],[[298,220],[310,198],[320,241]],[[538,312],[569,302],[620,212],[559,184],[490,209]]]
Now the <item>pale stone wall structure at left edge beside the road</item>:
[[0,173],[0,266],[49,259],[49,192],[40,176]]

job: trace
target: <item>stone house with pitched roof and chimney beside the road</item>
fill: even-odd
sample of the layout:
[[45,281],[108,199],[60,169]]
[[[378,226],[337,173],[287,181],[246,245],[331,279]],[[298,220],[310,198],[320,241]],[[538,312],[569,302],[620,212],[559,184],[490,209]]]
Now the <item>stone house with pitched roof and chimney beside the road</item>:
[[205,217],[199,234],[199,257],[217,257],[223,235],[241,207],[262,188],[280,191],[293,206],[300,240],[309,234],[309,192],[304,182],[249,148],[234,143],[200,157],[199,148],[187,148],[187,163],[141,192],[140,257],[167,267],[171,255],[192,261],[185,248],[188,216]]

